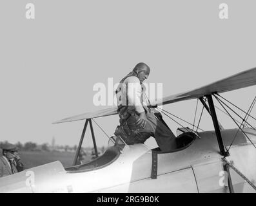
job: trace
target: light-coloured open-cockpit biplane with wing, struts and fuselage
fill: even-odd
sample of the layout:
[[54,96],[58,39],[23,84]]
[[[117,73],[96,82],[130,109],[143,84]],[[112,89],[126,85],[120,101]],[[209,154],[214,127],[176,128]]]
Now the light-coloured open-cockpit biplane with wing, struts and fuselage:
[[[256,192],[256,131],[248,121],[249,117],[256,120],[250,115],[255,100],[246,112],[221,95],[255,84],[256,68],[253,68],[192,91],[164,97],[159,105],[197,99],[214,126],[214,131],[199,131],[199,126],[196,130],[179,127],[177,148],[168,153],[145,144],[128,145],[121,136],[112,136],[106,151],[97,156],[92,120],[116,115],[117,108],[54,122],[85,120],[73,165],[64,168],[55,161],[5,176],[0,178],[0,192]],[[213,100],[219,102],[237,128],[221,126]],[[159,112],[168,115],[164,109],[159,108]],[[234,114],[241,122],[232,117]],[[88,124],[97,157],[77,164]]]

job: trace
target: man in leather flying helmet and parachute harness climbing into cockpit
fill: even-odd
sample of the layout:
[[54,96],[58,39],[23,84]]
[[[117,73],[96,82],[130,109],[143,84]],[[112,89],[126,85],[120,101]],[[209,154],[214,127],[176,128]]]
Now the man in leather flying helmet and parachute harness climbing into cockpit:
[[120,126],[115,135],[121,136],[126,144],[144,143],[153,136],[161,151],[168,152],[176,148],[175,135],[161,115],[151,112],[143,85],[149,74],[149,66],[141,62],[119,83],[115,93]]

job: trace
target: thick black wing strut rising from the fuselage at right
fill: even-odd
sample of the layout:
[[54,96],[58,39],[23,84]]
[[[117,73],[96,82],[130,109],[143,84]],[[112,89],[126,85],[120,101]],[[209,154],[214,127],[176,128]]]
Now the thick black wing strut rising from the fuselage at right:
[[216,133],[216,136],[217,136],[217,140],[218,140],[218,144],[219,144],[219,149],[221,151],[221,155],[224,156],[224,157],[229,156],[228,152],[225,151],[224,144],[223,144],[223,141],[222,141],[221,130],[219,128],[219,122],[217,120],[217,115],[216,115],[216,112],[215,112],[215,108],[214,108],[214,104],[213,104],[213,100],[212,100],[212,95],[206,95],[206,98],[208,100],[208,104],[209,104],[209,107],[210,107],[210,114],[212,116],[213,126],[214,126],[215,133]]

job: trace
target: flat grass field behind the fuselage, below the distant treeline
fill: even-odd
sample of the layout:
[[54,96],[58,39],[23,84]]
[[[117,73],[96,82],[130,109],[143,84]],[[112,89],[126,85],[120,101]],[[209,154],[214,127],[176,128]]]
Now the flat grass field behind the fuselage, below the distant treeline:
[[[75,153],[57,151],[19,151],[19,156],[25,165],[25,169],[54,162],[56,160],[59,160],[63,164],[63,167],[68,167],[72,165]],[[91,156],[86,156],[86,160],[90,160],[90,158]]]

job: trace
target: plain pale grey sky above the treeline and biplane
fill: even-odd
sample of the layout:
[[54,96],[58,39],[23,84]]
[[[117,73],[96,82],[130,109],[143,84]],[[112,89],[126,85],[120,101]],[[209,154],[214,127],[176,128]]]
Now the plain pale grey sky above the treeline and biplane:
[[[27,3],[34,4],[35,19],[26,19]],[[221,3],[228,5],[228,19],[219,18]],[[50,144],[54,137],[58,145],[78,144],[84,120],[52,122],[107,108],[94,105],[94,85],[107,85],[108,78],[119,82],[138,62],[150,66],[147,82],[162,83],[163,96],[254,68],[255,4],[1,1],[0,141]],[[255,86],[223,96],[246,110],[255,97]],[[177,102],[164,109],[193,122],[196,102]],[[225,115],[218,117],[225,128],[235,127]],[[95,119],[109,136],[118,120],[116,115]],[[176,133],[179,126],[165,120]],[[213,129],[206,113],[201,127]],[[94,132],[98,146],[108,143],[95,124]],[[92,145],[89,127],[84,144]],[[150,138],[148,144],[155,142]]]

